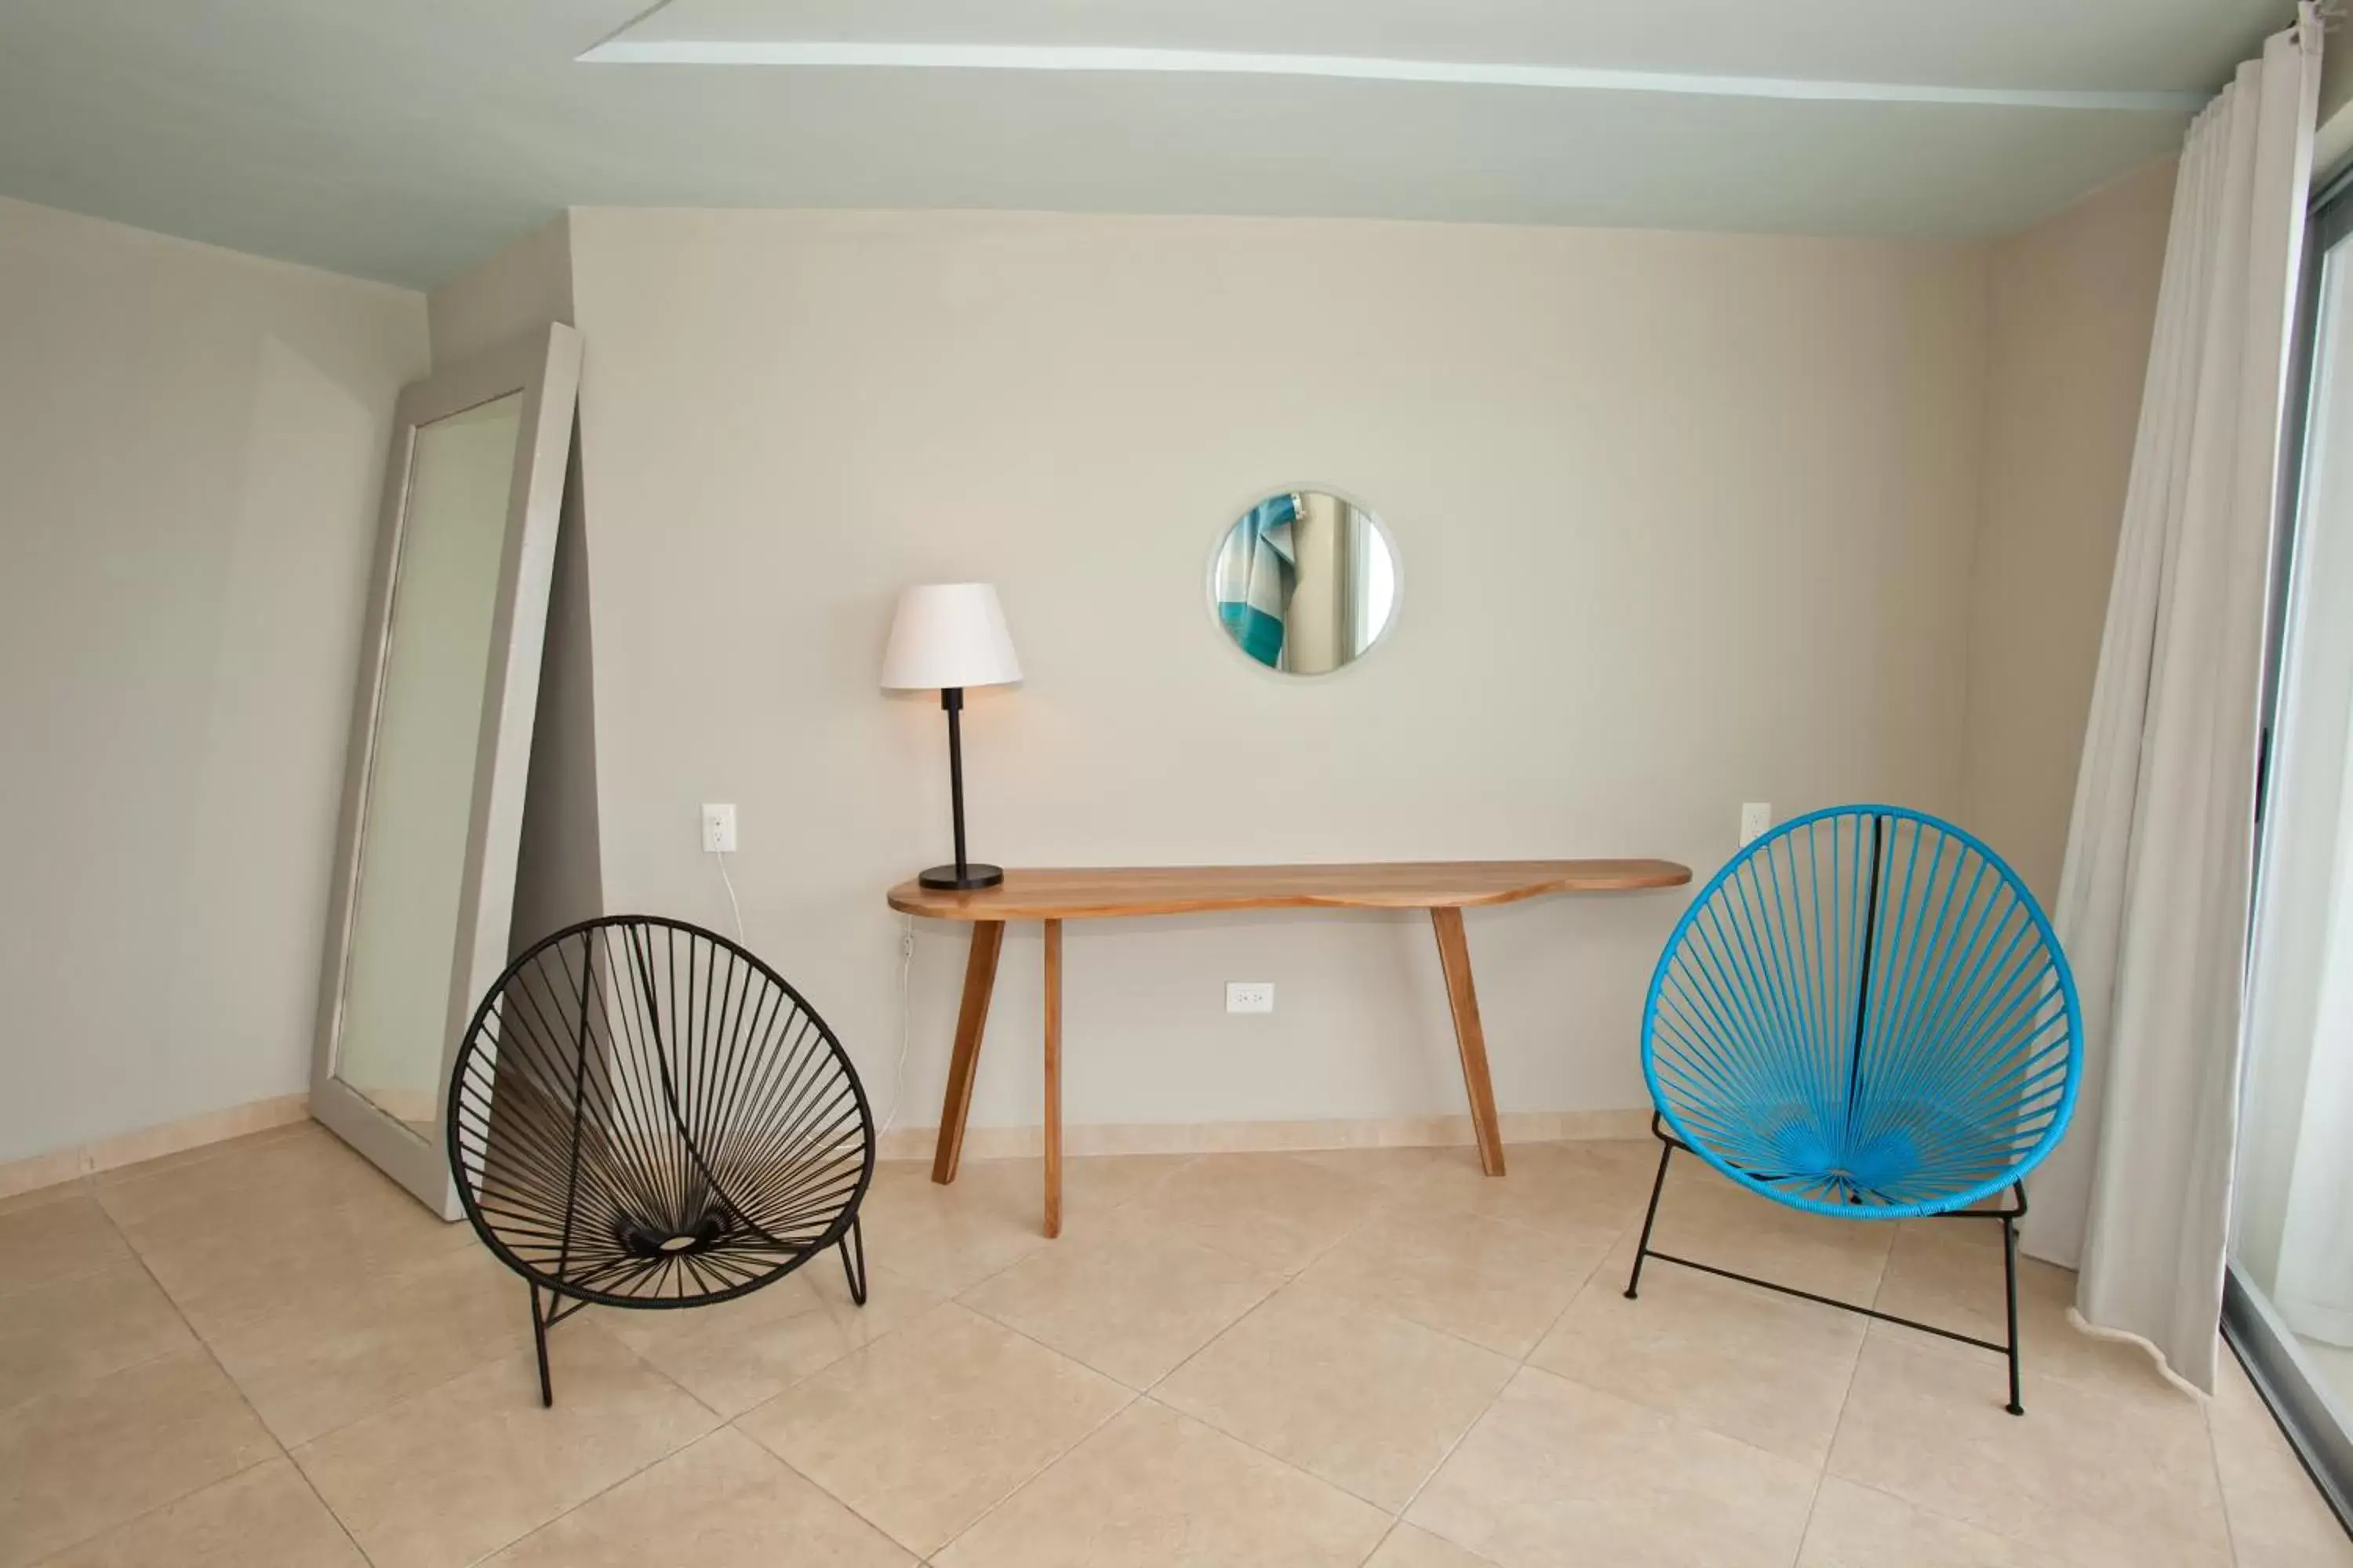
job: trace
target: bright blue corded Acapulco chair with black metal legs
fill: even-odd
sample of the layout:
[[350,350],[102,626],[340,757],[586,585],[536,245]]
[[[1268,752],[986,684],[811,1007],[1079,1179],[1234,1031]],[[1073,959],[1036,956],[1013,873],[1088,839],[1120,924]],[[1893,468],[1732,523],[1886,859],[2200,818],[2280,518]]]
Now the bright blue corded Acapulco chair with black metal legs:
[[[1979,1345],[2009,1359],[2024,1415],[2024,1178],[2066,1133],[2080,1070],[2075,978],[2000,856],[1901,806],[1793,818],[1701,889],[1652,976],[1642,1077],[1664,1147],[1626,1295],[1661,1258]],[[2000,1222],[2009,1342],[1652,1248],[1675,1150],[1807,1213]]]

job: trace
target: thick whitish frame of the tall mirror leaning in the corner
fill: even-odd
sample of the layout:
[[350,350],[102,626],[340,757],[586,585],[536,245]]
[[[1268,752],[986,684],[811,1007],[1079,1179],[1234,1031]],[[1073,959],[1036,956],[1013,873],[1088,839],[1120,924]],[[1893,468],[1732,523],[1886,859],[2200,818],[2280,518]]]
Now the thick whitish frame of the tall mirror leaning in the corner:
[[[433,1093],[433,1124],[445,1131],[449,1126],[449,1067],[459,1037],[482,992],[508,964],[522,795],[532,762],[532,726],[539,717],[539,661],[548,625],[548,583],[555,571],[555,529],[562,510],[565,465],[572,456],[579,378],[579,334],[565,324],[548,324],[508,348],[435,371],[400,390],[384,468],[384,505],[376,517],[360,679],[351,703],[351,743],[344,755],[334,891],[327,903],[327,943],[320,954],[311,1114],[445,1220],[464,1215],[456,1182],[449,1175],[447,1140],[435,1135],[428,1143],[336,1077],[344,1044],[344,994],[351,983],[351,929],[367,849],[367,790],[376,759],[376,724],[391,654],[393,592],[407,527],[416,430],[522,393],[515,470],[506,494],[506,541],[499,548],[489,672],[482,684],[482,719],[475,738],[473,813],[466,827],[456,943],[449,952],[449,973],[442,978],[447,985],[447,1030]],[[433,980],[433,976],[419,976],[421,985]]]

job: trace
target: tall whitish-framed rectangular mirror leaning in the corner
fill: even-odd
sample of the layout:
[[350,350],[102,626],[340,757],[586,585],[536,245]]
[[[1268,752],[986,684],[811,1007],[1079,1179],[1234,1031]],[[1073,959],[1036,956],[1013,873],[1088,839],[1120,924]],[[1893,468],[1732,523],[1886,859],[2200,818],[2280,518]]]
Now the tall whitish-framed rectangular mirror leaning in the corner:
[[400,393],[367,597],[311,1114],[459,1218],[449,1058],[506,969],[579,339]]

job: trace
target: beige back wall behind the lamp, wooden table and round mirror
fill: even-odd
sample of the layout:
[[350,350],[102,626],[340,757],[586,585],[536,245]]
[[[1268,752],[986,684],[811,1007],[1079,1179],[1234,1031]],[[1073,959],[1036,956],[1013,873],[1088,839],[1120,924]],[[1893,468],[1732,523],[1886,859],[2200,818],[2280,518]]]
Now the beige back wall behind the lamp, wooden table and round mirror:
[[[974,851],[1021,865],[1671,856],[1737,804],[1960,804],[1986,252],[1252,219],[572,214],[588,343],[602,872],[725,924],[878,1100],[882,889],[946,853],[936,703],[875,665],[911,581],[1002,590],[1028,682],[967,712]],[[1322,480],[1402,557],[1395,635],[1257,672],[1202,571]],[[1475,912],[1506,1110],[1638,1107],[1682,893]],[[1007,943],[979,1124],[1038,1119],[1038,936]],[[913,964],[936,1119],[962,931]],[[1273,980],[1273,1018],[1221,983]],[[1459,1112],[1428,926],[1068,933],[1073,1121]]]

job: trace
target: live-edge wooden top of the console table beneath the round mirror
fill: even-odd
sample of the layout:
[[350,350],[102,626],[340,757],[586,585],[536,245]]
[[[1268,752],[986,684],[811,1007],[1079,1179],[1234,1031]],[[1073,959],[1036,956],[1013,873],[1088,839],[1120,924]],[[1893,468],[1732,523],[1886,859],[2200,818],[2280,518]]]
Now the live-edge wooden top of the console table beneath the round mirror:
[[889,907],[932,919],[1113,919],[1195,910],[1464,910],[1544,893],[1682,886],[1673,860],[1398,860],[1007,870],[972,893],[901,882]]

